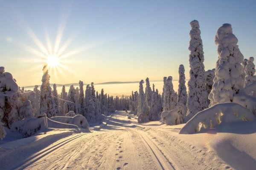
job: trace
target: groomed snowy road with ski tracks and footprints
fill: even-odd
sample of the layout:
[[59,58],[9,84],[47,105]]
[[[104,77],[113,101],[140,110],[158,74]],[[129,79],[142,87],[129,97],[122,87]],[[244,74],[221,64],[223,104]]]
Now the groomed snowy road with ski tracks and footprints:
[[108,125],[45,147],[7,169],[28,170],[198,170],[211,169],[203,150],[177,139],[166,129],[137,125],[116,112]]

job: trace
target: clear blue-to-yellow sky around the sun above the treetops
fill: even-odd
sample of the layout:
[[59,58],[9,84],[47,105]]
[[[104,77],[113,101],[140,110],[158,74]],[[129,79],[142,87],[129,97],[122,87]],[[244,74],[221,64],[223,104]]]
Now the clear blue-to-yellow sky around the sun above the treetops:
[[190,21],[207,70],[223,23],[244,57],[256,57],[255,17],[255,0],[0,0],[0,61],[20,86],[41,84],[45,51],[62,55],[51,83],[178,79],[180,64],[188,79]]

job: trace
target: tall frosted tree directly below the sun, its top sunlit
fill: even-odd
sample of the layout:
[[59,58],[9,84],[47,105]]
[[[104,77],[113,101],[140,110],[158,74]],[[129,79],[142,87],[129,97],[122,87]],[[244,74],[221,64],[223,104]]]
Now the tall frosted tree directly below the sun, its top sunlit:
[[50,87],[50,75],[48,74],[47,65],[43,68],[43,77],[40,95],[40,115],[46,113],[47,117],[57,116],[54,112],[54,101],[52,97],[52,88]]

